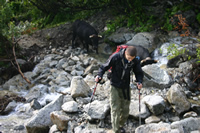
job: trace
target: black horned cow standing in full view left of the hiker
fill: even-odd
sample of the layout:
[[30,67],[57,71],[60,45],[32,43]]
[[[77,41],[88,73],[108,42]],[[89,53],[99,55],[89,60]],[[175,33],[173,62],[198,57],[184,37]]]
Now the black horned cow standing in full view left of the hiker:
[[84,48],[89,51],[89,45],[93,46],[93,49],[96,50],[98,54],[98,42],[101,37],[98,35],[98,32],[85,21],[76,20],[73,24],[73,38],[72,38],[72,48],[75,45],[75,39],[78,36],[80,41],[83,43]]

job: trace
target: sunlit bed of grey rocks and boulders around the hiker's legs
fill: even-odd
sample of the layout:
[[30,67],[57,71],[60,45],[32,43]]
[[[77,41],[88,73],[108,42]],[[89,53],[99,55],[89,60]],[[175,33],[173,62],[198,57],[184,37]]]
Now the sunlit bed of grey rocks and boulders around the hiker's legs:
[[[141,34],[149,33],[138,33],[132,40]],[[146,37],[151,39],[151,36]],[[100,47],[108,50],[109,45],[101,44]],[[138,90],[131,82],[130,117],[124,126],[127,132],[190,133],[200,130],[200,91],[195,90],[199,84],[190,78],[199,66],[195,67],[196,60],[179,60],[178,67],[169,68],[166,59],[163,62],[164,54],[154,56],[160,59],[159,63],[143,67],[141,126],[138,123]],[[2,133],[103,133],[111,129],[106,74],[105,83],[97,85],[94,99],[89,103],[95,86],[94,76],[102,63],[98,57],[85,54],[82,48],[64,46],[47,47],[34,60],[38,63],[33,71],[24,73],[31,84],[16,75],[0,87],[1,94],[12,93],[26,99],[25,103],[13,100],[8,104],[6,113],[0,116]]]

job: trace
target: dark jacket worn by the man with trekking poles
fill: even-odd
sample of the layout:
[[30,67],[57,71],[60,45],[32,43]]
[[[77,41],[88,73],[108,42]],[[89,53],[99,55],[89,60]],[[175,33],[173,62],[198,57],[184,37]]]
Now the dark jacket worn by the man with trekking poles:
[[[143,81],[143,71],[140,66],[140,60],[138,58],[133,59],[130,63],[127,63],[127,68],[124,65],[124,52],[125,49],[121,50],[120,52],[113,54],[105,64],[101,65],[99,68],[98,75],[100,77],[103,77],[103,74],[105,71],[110,69],[112,67],[112,73],[110,82],[111,85],[117,87],[117,88],[123,88],[123,89],[129,89],[130,86],[130,72],[133,70],[137,82],[142,83]],[[125,63],[126,64],[126,63]],[[124,75],[123,70],[125,70]]]

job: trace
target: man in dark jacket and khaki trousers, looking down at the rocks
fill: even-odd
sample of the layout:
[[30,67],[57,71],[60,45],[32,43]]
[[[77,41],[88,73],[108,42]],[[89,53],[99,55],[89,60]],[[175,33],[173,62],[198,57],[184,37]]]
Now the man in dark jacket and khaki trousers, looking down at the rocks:
[[99,67],[95,81],[102,80],[104,73],[112,68],[110,75],[110,106],[111,106],[111,132],[125,132],[123,126],[129,116],[129,105],[131,99],[130,74],[133,70],[138,89],[142,88],[143,71],[140,60],[136,58],[137,50],[134,46],[111,55],[105,64]]

